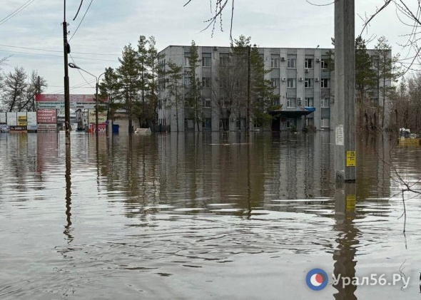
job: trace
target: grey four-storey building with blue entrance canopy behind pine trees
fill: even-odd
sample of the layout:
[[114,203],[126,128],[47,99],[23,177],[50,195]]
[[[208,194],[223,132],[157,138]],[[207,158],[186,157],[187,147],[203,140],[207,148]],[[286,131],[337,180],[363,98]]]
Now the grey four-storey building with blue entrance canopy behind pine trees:
[[[161,66],[173,61],[183,67],[183,73],[190,68],[190,46],[168,46],[160,52]],[[328,64],[332,61],[331,51],[327,48],[258,48],[263,57],[265,68],[270,70],[265,79],[272,81],[275,93],[275,104],[282,105],[282,110],[273,111],[272,130],[287,130],[296,128],[301,130],[305,126],[312,126],[317,130],[330,130],[334,98],[334,71],[330,71]],[[201,127],[202,131],[218,131],[223,128],[229,130],[245,129],[245,108],[238,108],[230,118],[222,113],[221,99],[218,93],[219,66],[231,53],[230,47],[198,47],[201,66],[196,70],[197,77],[202,83]],[[375,55],[373,50],[370,56]],[[168,69],[168,68],[167,68]],[[181,87],[182,95],[186,98],[188,78],[184,75]],[[168,105],[171,98],[168,94],[168,78],[161,78],[159,88],[159,124],[170,125],[171,131],[198,130],[191,109],[186,101],[178,107],[178,116],[174,105]],[[373,103],[379,103],[379,93],[372,93]],[[181,106],[181,107],[180,107]],[[223,107],[223,105],[222,105]],[[388,114],[387,114],[388,115]],[[253,121],[250,120],[250,123]],[[225,126],[224,126],[225,125]],[[250,124],[253,130],[256,128]]]

